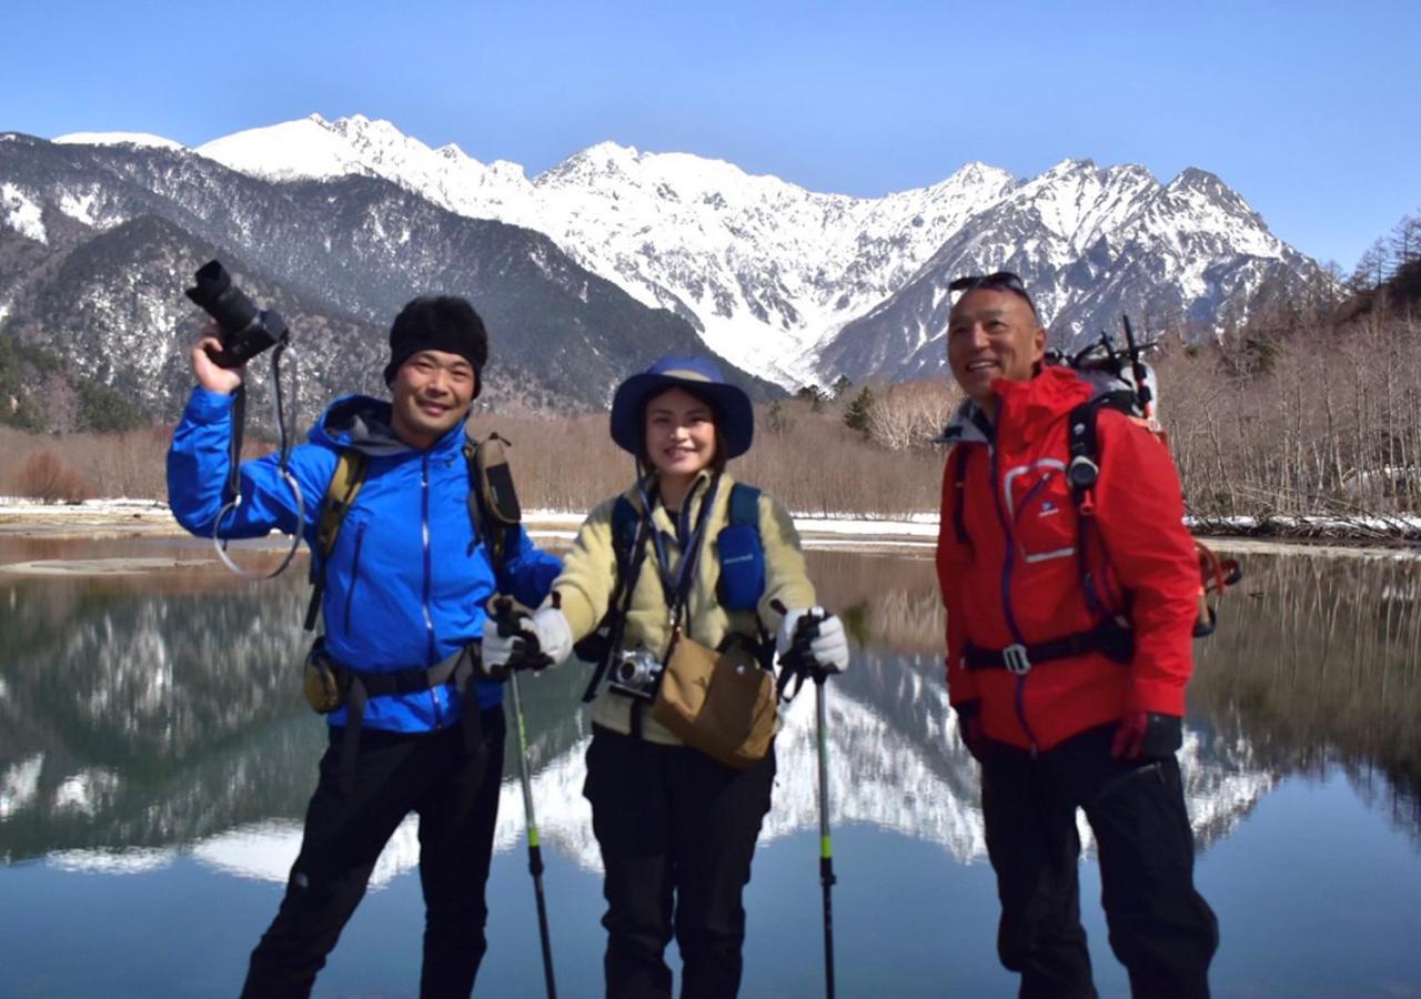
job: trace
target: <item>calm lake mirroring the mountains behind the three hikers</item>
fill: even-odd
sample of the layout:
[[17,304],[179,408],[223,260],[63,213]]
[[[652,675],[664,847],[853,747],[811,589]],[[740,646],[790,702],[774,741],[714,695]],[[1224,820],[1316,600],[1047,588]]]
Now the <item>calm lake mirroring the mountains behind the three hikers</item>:
[[[1010,996],[976,767],[942,682],[921,557],[811,551],[855,641],[830,692],[841,996]],[[178,541],[0,539],[0,564]],[[1198,881],[1219,915],[1216,996],[1421,996],[1421,561],[1248,556],[1199,642],[1181,752]],[[249,584],[0,573],[0,996],[230,996],[276,912],[324,723],[300,698],[304,561]],[[581,797],[581,668],[523,684],[558,992],[601,995],[601,877]],[[813,693],[787,711],[746,894],[742,995],[823,995]],[[514,756],[479,995],[543,993]],[[412,824],[317,985],[409,996],[423,909]],[[1103,996],[1098,868],[1081,861]]]

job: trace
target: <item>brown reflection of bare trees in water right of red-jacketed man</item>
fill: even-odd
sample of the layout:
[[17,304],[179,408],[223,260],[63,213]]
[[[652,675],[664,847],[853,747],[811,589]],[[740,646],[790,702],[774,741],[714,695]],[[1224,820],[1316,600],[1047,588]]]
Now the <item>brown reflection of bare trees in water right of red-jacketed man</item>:
[[1277,774],[1343,766],[1421,846],[1421,563],[1256,561],[1199,647],[1189,696],[1201,729]]

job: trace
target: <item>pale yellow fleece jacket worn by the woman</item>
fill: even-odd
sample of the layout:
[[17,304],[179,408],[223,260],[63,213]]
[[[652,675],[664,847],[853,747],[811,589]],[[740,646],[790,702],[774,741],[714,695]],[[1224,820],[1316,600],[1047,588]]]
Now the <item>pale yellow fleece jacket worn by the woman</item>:
[[[691,522],[701,516],[701,503],[709,486],[709,472],[698,476],[691,499]],[[718,648],[728,634],[747,638],[757,637],[755,614],[750,611],[726,611],[716,598],[716,583],[720,578],[720,557],[715,539],[730,519],[730,486],[735,480],[720,473],[713,506],[706,520],[703,549],[696,564],[695,581],[691,587],[689,635],[706,648]],[[635,486],[627,499],[639,512],[641,496]],[[607,614],[617,584],[617,553],[612,546],[612,507],[617,497],[600,503],[583,522],[577,531],[573,550],[563,558],[563,571],[553,583],[553,594],[560,601],[563,614],[571,627],[574,641],[591,634]],[[804,571],[804,554],[800,551],[799,531],[789,512],[767,493],[760,493],[760,544],[764,549],[764,594],[760,597],[759,617],[772,635],[780,627],[782,615],[772,601],[780,601],[786,610],[814,605],[814,587]],[[685,553],[676,541],[676,519],[658,500],[651,514],[652,526],[662,531],[671,571],[676,573]],[[549,597],[547,604],[553,603]],[[647,557],[642,561],[637,587],[632,591],[627,612],[627,630],[622,635],[624,649],[644,648],[661,659],[671,641],[669,608],[657,573],[657,551],[647,537]],[[746,657],[747,658],[747,657]],[[593,702],[593,723],[631,733],[632,699],[607,689],[604,682]],[[642,711],[642,736],[651,742],[676,746],[681,740],[658,725],[651,711]]]

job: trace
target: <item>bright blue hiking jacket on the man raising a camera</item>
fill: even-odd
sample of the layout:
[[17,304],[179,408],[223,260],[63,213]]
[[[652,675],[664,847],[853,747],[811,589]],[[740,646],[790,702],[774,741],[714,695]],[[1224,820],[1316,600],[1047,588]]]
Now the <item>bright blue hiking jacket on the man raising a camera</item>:
[[[230,395],[193,389],[168,450],[168,502],[178,523],[212,537],[222,509],[232,435]],[[493,567],[469,520],[469,466],[463,423],[428,450],[389,431],[389,404],[367,396],[335,401],[291,450],[288,468],[301,487],[307,546],[341,448],[367,455],[365,480],[341,523],[325,567],[325,651],[360,671],[432,666],[483,634],[485,605],[496,593]],[[296,497],[281,477],[279,455],[242,463],[242,503],[222,522],[223,537],[264,537],[297,530]],[[561,561],[540,551],[520,529],[509,557],[512,595],[537,607]],[[503,688],[479,682],[479,705],[502,702]],[[331,725],[345,723],[347,709]],[[459,698],[448,685],[371,698],[364,725],[391,732],[429,732],[459,720]]]

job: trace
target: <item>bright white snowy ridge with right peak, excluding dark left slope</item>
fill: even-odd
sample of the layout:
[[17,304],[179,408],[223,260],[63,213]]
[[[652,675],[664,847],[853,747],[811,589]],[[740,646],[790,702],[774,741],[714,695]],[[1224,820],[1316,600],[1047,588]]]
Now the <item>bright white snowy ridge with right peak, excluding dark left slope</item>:
[[392,124],[318,115],[199,146],[270,180],[369,175],[458,215],[534,229],[583,267],[686,318],[706,344],[784,387],[941,367],[946,283],[1012,269],[1063,337],[1130,311],[1211,330],[1268,281],[1316,264],[1218,178],[1161,185],[1141,166],[1063,161],[1019,180],[969,163],[878,199],[824,195],[732,163],[604,142],[529,178]]

